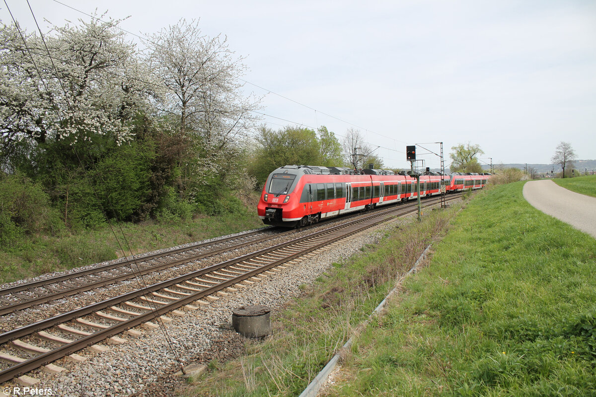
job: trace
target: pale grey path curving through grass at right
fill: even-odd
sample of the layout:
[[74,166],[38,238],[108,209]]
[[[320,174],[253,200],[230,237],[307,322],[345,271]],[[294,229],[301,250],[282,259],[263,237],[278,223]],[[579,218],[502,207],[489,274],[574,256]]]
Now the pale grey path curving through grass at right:
[[523,186],[532,207],[596,237],[596,198],[558,186],[552,180],[533,180]]

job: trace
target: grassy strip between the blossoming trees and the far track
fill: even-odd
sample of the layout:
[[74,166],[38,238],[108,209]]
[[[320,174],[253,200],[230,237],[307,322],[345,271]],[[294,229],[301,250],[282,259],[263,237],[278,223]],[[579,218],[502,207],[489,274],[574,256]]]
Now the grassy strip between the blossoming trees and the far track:
[[76,234],[29,236],[0,250],[0,283],[262,227],[255,207],[189,220],[113,223],[113,231],[105,224]]

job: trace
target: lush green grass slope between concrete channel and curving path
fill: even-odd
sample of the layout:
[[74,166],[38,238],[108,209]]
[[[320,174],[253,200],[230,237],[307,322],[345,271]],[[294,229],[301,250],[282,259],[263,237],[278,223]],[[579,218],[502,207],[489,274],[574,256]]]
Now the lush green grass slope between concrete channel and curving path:
[[470,203],[327,395],[594,395],[596,240],[522,186]]

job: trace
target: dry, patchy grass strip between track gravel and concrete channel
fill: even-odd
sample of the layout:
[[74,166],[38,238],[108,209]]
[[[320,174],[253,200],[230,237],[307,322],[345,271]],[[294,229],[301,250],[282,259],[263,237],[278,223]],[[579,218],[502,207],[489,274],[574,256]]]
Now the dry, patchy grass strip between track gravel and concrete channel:
[[305,297],[274,318],[273,334],[249,343],[246,357],[212,363],[210,373],[182,390],[188,396],[296,396],[343,345],[457,211],[429,211],[418,224],[396,227],[391,239],[334,264]]

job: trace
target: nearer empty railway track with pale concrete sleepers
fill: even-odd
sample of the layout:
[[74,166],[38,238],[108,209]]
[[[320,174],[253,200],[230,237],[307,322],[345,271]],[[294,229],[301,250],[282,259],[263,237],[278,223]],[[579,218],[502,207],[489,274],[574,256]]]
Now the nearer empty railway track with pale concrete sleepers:
[[[458,196],[454,195],[450,199],[455,198]],[[424,205],[433,205],[438,201],[439,199],[427,199]],[[0,359],[10,363],[10,366],[0,371],[0,383],[62,357],[81,360],[82,357],[75,352],[87,346],[101,351],[102,347],[97,343],[106,339],[111,343],[122,343],[123,339],[115,335],[128,332],[135,336],[138,331],[133,328],[141,324],[145,327],[158,327],[153,321],[170,321],[170,318],[164,317],[167,313],[181,315],[179,309],[197,310],[200,305],[207,305],[209,301],[219,299],[219,296],[233,293],[269,274],[294,265],[297,258],[408,214],[413,208],[415,204],[386,208],[357,220],[330,226],[251,254],[4,332],[0,334]],[[54,364],[45,365],[44,369],[56,372],[62,370]]]

